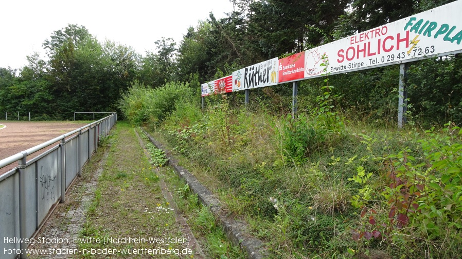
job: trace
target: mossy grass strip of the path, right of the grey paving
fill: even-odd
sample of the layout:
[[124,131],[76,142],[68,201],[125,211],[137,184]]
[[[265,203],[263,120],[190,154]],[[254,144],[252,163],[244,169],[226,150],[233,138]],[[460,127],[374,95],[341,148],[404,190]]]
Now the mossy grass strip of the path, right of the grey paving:
[[[79,248],[89,252],[85,257],[105,258],[107,253],[92,254],[91,249],[122,249],[135,251],[123,257],[138,258],[162,256],[178,258],[176,251],[182,251],[182,244],[151,242],[149,238],[182,237],[180,226],[175,222],[174,213],[157,184],[153,167],[139,145],[131,126],[118,122],[112,146],[99,177],[95,198],[87,211],[86,223],[80,232],[81,238],[145,238],[142,242],[100,242],[80,243]],[[151,255],[144,249],[152,249]],[[170,250],[171,254],[157,253]],[[179,249],[179,250],[176,250]],[[143,252],[143,254],[141,254]],[[157,254],[156,254],[157,253]]]

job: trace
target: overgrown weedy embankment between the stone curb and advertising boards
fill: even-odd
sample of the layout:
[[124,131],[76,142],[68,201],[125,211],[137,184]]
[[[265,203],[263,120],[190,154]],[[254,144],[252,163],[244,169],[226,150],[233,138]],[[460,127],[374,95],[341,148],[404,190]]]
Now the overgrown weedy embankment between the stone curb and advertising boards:
[[327,95],[296,119],[214,96],[154,133],[275,258],[460,257],[460,129],[347,122]]

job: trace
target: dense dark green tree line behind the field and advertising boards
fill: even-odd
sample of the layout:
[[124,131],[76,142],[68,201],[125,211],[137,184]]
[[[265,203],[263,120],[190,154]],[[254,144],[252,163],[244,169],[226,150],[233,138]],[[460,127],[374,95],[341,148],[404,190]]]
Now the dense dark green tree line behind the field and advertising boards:
[[[54,31],[43,43],[47,61],[32,53],[27,56],[28,64],[19,70],[0,68],[0,112],[69,119],[74,111],[114,111],[121,93],[134,82],[152,88],[172,81],[188,82],[199,94],[200,83],[244,66],[453,2],[230,1],[234,9],[225,17],[217,19],[210,13],[197,26],[187,28],[180,43],[162,38],[153,43],[154,51],[143,54],[111,41],[101,43],[81,25]],[[414,118],[442,123],[461,117],[461,63],[457,55],[413,63],[408,91]],[[390,66],[331,76],[330,83],[340,96],[336,104],[365,118],[392,118],[397,110],[398,70],[398,66]],[[322,79],[300,82],[299,94],[309,103],[321,84]],[[284,86],[259,89],[253,91],[253,98],[277,106],[287,101],[290,91]],[[300,105],[303,108],[303,102]]]

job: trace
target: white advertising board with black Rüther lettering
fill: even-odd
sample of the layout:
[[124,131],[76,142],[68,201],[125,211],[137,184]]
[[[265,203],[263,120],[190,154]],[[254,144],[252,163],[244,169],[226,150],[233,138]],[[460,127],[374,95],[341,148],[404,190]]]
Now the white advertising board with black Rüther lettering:
[[252,66],[233,72],[233,92],[264,86],[273,86],[278,83],[277,65],[275,57]]

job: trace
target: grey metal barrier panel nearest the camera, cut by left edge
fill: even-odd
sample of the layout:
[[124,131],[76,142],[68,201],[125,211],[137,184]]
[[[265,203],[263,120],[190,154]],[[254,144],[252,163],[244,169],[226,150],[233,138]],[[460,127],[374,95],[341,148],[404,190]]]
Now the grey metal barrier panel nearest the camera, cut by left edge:
[[[13,169],[9,172],[16,171]],[[0,236],[19,237],[19,174],[15,173],[0,182]],[[3,242],[4,240],[2,240]],[[19,244],[3,242],[6,249],[19,249]],[[16,254],[0,252],[0,259],[12,259]]]

